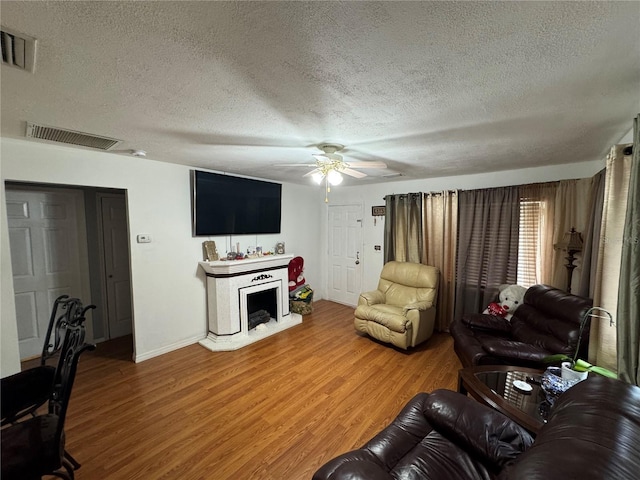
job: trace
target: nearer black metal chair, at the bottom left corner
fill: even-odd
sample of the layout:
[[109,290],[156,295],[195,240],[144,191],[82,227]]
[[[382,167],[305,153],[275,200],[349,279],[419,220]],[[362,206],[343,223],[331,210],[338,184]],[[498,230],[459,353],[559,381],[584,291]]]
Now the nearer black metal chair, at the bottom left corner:
[[60,348],[48,413],[36,415],[2,429],[2,479],[35,480],[52,475],[75,478],[79,467],[65,450],[64,421],[71,398],[78,359],[95,345],[84,343],[84,325],[67,325]]

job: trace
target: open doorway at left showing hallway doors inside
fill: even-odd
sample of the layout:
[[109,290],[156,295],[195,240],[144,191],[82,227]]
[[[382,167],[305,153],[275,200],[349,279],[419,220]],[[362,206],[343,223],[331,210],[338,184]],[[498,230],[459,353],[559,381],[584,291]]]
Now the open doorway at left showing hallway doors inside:
[[87,318],[87,341],[131,335],[126,191],[7,182],[6,201],[21,360],[42,351],[61,294],[97,306]]

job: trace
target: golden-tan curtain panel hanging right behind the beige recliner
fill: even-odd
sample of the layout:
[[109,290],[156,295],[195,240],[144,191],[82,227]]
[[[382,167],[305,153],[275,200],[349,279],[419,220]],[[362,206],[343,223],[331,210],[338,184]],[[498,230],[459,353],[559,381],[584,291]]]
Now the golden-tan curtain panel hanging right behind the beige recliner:
[[424,217],[422,263],[440,270],[435,328],[448,332],[455,307],[458,193],[444,191],[425,194]]

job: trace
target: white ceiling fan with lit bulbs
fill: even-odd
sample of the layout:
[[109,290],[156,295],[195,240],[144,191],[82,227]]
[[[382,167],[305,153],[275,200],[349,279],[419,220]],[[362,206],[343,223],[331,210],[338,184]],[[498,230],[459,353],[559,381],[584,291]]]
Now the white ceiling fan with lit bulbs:
[[323,143],[318,145],[323,153],[313,154],[316,163],[294,163],[278,166],[286,167],[315,167],[307,172],[303,177],[313,178],[318,185],[324,180],[326,187],[325,202],[329,201],[328,193],[331,191],[331,185],[340,185],[342,183],[342,174],[349,175],[354,178],[363,178],[367,174],[355,170],[356,168],[387,168],[384,162],[345,162],[342,155],[337,152],[344,149],[344,145],[337,143]]

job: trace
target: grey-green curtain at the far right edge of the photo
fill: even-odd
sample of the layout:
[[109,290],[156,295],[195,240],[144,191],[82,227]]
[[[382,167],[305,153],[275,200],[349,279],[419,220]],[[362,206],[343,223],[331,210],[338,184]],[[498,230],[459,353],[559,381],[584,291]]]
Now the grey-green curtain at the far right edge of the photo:
[[633,121],[633,156],[622,235],[618,289],[618,375],[640,385],[640,116]]

